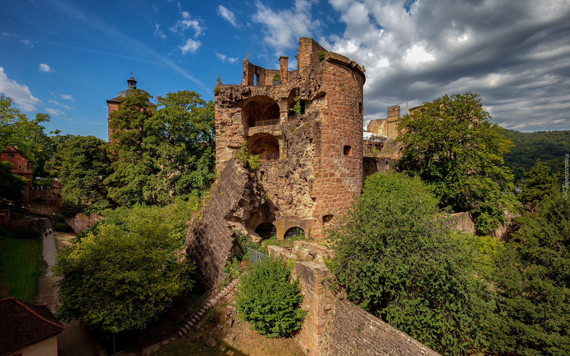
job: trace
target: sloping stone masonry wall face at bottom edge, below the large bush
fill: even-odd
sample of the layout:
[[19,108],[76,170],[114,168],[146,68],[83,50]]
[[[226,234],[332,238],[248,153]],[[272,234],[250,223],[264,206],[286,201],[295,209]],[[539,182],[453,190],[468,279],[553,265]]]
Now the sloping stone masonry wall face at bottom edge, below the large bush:
[[347,300],[336,300],[331,315],[319,355],[439,355]]

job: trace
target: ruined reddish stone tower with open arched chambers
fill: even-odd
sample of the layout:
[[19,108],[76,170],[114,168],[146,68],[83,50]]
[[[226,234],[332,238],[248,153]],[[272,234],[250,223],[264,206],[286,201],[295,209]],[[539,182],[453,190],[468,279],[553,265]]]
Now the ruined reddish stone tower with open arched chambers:
[[[265,69],[243,60],[242,83],[215,88],[216,167],[246,141],[262,164],[264,207],[243,220],[258,234],[323,236],[363,185],[363,85],[349,58],[300,38],[298,69]],[[278,84],[274,84],[275,83]],[[299,93],[301,114],[289,109]],[[272,230],[272,232],[270,232]]]

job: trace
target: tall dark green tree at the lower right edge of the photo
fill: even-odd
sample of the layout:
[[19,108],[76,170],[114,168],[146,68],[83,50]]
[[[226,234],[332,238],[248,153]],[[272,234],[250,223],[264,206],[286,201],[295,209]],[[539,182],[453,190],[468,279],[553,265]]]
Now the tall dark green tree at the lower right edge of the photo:
[[492,349],[525,356],[570,354],[570,202],[561,194],[516,218],[492,280],[504,300]]

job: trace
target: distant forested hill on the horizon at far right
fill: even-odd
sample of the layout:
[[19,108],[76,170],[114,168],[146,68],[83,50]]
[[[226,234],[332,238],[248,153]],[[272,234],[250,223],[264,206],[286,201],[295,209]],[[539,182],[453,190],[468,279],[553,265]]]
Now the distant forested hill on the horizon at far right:
[[[570,153],[570,131],[518,132],[503,130],[515,147],[504,156],[504,164],[512,169],[515,179],[526,178],[528,172],[540,158],[553,172],[562,173],[564,156]],[[562,183],[562,177],[558,179]]]

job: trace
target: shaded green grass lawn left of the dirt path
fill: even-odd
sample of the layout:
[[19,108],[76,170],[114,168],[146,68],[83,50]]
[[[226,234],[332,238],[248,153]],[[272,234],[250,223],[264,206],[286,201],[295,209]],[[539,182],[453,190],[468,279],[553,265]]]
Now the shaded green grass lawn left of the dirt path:
[[16,239],[16,231],[0,236],[0,298],[36,300],[42,272],[42,240]]

